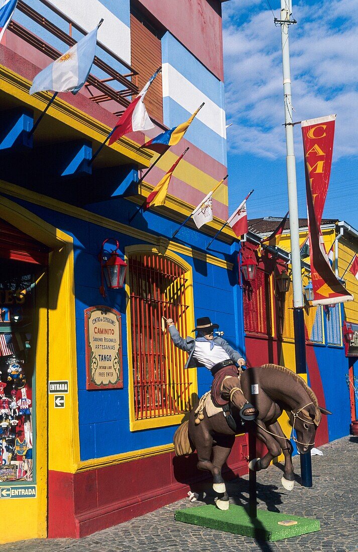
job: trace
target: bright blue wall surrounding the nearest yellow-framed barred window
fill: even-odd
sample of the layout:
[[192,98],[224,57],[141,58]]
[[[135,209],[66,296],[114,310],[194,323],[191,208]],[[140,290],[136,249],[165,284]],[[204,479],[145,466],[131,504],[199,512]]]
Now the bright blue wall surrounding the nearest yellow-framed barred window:
[[[13,198],[12,198],[13,199]],[[108,237],[115,237],[123,251],[126,246],[140,243],[127,235],[113,232],[102,226],[91,224],[75,217],[62,215],[56,211],[42,208],[25,201],[17,200],[41,219],[48,221],[60,230],[73,237],[75,253],[75,295],[76,295],[76,343],[77,343],[77,380],[78,408],[80,428],[81,460],[101,458],[108,455],[129,452],[172,442],[176,426],[148,429],[137,432],[129,431],[129,389],[128,389],[128,352],[127,352],[127,318],[125,315],[125,291],[108,291],[103,299],[99,294],[100,267],[97,260],[101,245]],[[95,205],[96,211],[103,215],[115,215],[119,220],[123,210],[115,206],[117,200]],[[114,204],[114,205],[113,205]],[[110,211],[110,212],[109,212]],[[146,213],[144,220],[146,230],[155,234],[171,235],[171,224],[164,217],[153,212]],[[156,231],[154,232],[154,227]],[[199,231],[185,229],[188,239],[204,250],[208,238]],[[191,243],[188,242],[188,243]],[[215,250],[219,257],[233,261],[230,247],[216,242]],[[236,335],[236,328],[241,321],[236,315],[241,312],[240,297],[236,293],[237,277],[235,270],[199,261],[192,257],[182,256],[193,269],[194,316],[210,316],[213,322],[220,325],[227,341],[243,354],[243,336]],[[236,258],[234,256],[234,258]],[[93,305],[108,305],[117,309],[122,315],[123,338],[123,390],[86,390],[84,310]],[[199,395],[206,392],[212,383],[212,375],[205,368],[198,369]]]

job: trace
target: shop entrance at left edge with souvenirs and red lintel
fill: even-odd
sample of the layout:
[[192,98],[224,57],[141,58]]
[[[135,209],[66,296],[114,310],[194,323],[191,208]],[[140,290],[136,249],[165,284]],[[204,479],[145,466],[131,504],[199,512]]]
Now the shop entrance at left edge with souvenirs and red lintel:
[[[43,295],[47,289],[48,252],[43,244],[0,220],[0,506],[3,514],[19,508],[20,500],[26,500],[25,509],[32,503],[38,511],[38,495],[43,492],[38,488],[36,462],[38,451],[46,451],[43,438],[39,443],[36,438],[36,351],[38,289],[44,305],[47,303]],[[42,430],[39,433],[46,434]],[[43,516],[46,518],[45,508]]]

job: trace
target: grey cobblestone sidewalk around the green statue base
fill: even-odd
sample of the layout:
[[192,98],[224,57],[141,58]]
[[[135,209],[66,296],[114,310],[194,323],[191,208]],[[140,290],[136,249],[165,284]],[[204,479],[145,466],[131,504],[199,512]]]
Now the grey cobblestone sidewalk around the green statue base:
[[[318,533],[276,543],[259,543],[248,537],[176,522],[174,513],[177,509],[203,504],[181,500],[81,540],[35,539],[1,545],[1,552],[358,551],[358,438],[344,437],[320,450],[323,456],[312,457],[312,489],[302,487],[299,476],[292,492],[283,489],[280,465],[270,466],[257,474],[259,508],[317,518],[321,526]],[[294,457],[293,465],[299,473],[299,457]],[[247,476],[230,481],[227,487],[230,503],[248,503]],[[25,522],[21,519],[21,512],[18,522]],[[12,521],[3,519],[3,531],[7,523]]]

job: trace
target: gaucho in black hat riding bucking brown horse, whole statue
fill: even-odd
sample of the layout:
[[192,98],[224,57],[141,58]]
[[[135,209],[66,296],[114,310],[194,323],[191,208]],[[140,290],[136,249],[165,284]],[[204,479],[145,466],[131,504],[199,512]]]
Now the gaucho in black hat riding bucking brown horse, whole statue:
[[[197,337],[180,336],[172,319],[167,319],[171,339],[176,347],[189,354],[185,368],[204,366],[213,376],[211,391],[194,405],[189,420],[174,434],[177,456],[197,451],[200,470],[213,476],[213,489],[218,493],[216,505],[229,508],[229,496],[222,477],[222,467],[233,447],[235,434],[253,432],[267,447],[263,458],[249,463],[251,470],[266,469],[271,460],[285,457],[282,485],[294,486],[292,465],[294,440],[301,454],[310,452],[322,413],[317,397],[301,376],[276,364],[243,369],[245,360],[220,336],[214,336],[217,324],[209,317],[197,319],[193,332]],[[278,418],[286,411],[291,424],[291,437],[283,433]],[[296,437],[293,435],[296,432]]]

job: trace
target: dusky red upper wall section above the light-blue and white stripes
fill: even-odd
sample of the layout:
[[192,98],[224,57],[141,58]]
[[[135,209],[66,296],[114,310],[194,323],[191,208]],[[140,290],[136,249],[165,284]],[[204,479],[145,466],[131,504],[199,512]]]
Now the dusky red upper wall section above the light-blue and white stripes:
[[224,80],[219,0],[138,0],[138,4],[146,8],[220,81]]

